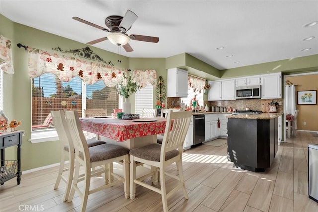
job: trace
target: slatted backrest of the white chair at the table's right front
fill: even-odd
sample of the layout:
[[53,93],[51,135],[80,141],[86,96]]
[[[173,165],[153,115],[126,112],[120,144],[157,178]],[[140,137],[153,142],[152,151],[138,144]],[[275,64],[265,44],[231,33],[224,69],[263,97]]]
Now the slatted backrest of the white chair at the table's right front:
[[165,161],[165,153],[173,149],[178,149],[179,153],[182,154],[183,143],[189,129],[191,115],[192,111],[173,112],[170,110],[168,112],[161,147],[160,161]]

